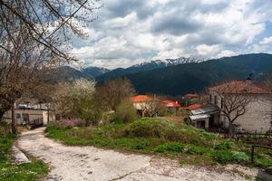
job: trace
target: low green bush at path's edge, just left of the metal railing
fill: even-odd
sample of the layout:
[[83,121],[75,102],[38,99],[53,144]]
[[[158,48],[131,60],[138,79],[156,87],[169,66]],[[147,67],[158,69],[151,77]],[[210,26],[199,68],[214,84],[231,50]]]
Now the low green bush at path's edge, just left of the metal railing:
[[219,163],[227,164],[227,163],[240,163],[248,160],[248,155],[245,152],[238,151],[217,151],[212,154]]

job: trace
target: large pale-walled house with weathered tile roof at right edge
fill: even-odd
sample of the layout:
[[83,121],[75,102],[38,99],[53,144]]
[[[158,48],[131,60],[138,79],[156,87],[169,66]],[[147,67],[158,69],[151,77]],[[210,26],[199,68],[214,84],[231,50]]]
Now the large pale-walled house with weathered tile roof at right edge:
[[[224,93],[218,90],[224,90]],[[219,125],[224,129],[228,129],[229,121],[226,115],[223,114],[223,110],[228,108],[228,105],[231,103],[230,101],[239,99],[240,102],[248,102],[245,104],[245,112],[242,112],[233,122],[236,129],[257,133],[267,133],[267,131],[271,131],[272,92],[249,80],[229,81],[219,86],[209,88],[210,104],[217,106],[220,111]],[[236,103],[236,105],[238,105],[238,103]],[[243,107],[240,107],[238,109],[242,108]],[[233,114],[230,116],[235,117]]]

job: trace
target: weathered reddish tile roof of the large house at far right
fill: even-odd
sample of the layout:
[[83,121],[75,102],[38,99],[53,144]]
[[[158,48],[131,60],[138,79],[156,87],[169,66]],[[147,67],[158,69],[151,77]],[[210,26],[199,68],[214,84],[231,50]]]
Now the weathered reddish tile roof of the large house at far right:
[[272,93],[271,90],[256,85],[251,81],[229,81],[220,85],[210,87],[209,90],[220,91],[222,93]]

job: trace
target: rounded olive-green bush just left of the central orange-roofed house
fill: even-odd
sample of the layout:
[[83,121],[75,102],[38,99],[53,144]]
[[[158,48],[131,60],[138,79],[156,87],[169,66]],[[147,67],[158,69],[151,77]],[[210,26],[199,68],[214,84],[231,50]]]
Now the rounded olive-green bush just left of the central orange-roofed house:
[[116,108],[116,119],[122,120],[124,123],[136,120],[137,110],[134,109],[133,104],[129,100],[122,101]]

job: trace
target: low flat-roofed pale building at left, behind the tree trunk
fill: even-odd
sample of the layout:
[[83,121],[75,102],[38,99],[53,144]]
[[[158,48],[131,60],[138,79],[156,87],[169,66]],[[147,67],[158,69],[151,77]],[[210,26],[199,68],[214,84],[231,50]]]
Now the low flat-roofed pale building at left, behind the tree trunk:
[[[54,119],[53,113],[47,104],[30,105],[29,103],[15,104],[15,119],[17,125],[40,125],[45,126]],[[12,121],[12,110],[4,114],[6,122]]]

